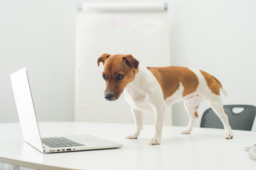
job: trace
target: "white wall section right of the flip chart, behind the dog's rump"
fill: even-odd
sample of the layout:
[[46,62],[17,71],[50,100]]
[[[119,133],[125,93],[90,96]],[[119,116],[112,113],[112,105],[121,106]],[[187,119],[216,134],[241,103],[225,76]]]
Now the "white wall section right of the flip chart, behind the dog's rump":
[[[256,1],[170,1],[171,63],[202,69],[228,91],[224,104],[256,105]],[[199,116],[208,108],[198,109]],[[174,125],[187,125],[183,103]],[[199,126],[201,118],[196,122]]]

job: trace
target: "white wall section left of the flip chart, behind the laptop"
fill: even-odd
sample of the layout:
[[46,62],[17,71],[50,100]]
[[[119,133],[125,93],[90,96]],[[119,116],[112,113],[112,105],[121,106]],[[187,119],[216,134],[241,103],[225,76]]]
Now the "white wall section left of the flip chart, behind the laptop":
[[75,1],[0,1],[0,123],[18,121],[9,74],[26,67],[38,119],[73,120]]

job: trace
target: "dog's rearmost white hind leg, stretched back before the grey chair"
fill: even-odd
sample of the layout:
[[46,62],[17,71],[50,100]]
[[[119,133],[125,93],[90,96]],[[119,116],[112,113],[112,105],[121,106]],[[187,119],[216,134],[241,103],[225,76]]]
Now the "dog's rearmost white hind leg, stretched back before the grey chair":
[[224,112],[223,108],[223,102],[220,96],[212,96],[210,98],[207,98],[206,101],[208,101],[210,107],[213,109],[213,111],[218,115],[221,122],[223,123],[223,126],[225,128],[225,139],[232,139],[233,138],[233,132],[230,128],[230,124],[228,123],[228,115]]

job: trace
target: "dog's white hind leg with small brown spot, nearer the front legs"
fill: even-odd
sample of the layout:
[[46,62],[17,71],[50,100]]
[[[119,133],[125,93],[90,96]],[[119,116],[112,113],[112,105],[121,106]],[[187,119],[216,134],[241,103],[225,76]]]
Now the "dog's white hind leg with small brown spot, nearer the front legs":
[[195,95],[184,101],[184,107],[189,116],[189,123],[185,130],[181,132],[181,134],[190,134],[193,129],[193,124],[198,118],[197,109],[199,104],[204,100],[203,96]]

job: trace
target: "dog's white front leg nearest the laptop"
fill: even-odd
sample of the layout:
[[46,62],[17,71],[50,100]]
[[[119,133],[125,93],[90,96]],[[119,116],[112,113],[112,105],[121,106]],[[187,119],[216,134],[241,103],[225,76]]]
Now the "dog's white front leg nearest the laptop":
[[134,132],[126,137],[127,139],[137,139],[143,127],[143,112],[137,110],[136,108],[132,108],[132,114],[134,115],[135,129]]

